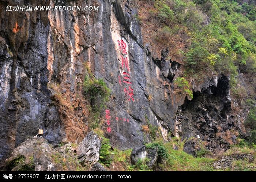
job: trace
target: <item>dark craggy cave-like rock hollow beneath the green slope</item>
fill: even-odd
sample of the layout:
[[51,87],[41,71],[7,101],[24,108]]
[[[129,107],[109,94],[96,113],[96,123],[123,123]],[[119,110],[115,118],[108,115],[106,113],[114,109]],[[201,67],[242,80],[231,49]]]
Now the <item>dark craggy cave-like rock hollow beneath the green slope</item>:
[[[221,146],[228,148],[230,144],[235,144],[237,131],[241,134],[244,131],[241,120],[245,118],[234,118],[230,115],[229,78],[223,75],[213,77],[201,85],[200,91],[194,92],[193,95],[194,99],[192,101],[186,99],[177,112],[175,118],[177,136],[184,138],[199,136],[200,140],[206,142],[206,147],[213,152]],[[195,141],[188,141],[184,149],[189,153],[195,152]]]

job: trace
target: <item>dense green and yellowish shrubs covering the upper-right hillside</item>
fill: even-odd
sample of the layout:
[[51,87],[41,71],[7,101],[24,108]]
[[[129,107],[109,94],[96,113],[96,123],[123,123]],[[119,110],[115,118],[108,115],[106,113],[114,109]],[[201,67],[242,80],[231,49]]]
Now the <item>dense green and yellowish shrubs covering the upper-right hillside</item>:
[[[174,56],[178,49],[184,53],[184,77],[201,81],[212,73],[230,75],[231,91],[237,93],[238,69],[256,79],[255,4],[234,0],[148,1],[153,7],[148,14],[151,19],[145,20],[157,23],[152,36],[158,44],[177,47]],[[184,34],[188,46],[179,48],[174,35],[184,39]]]

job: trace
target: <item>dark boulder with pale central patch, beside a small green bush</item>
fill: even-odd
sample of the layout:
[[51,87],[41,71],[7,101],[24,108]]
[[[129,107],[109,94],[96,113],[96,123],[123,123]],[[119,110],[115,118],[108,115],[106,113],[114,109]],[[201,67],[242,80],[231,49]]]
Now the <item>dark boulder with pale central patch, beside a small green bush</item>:
[[147,148],[145,145],[133,148],[131,153],[131,163],[136,164],[139,160],[145,160],[148,158],[147,166],[151,169],[157,167],[158,162],[158,148]]

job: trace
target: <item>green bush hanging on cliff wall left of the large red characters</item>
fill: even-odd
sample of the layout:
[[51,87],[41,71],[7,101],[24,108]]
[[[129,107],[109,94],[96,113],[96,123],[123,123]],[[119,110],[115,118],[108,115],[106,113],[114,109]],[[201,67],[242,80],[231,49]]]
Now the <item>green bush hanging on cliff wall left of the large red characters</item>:
[[111,90],[103,79],[90,78],[89,76],[84,78],[83,95],[90,101],[90,106],[88,106],[90,128],[94,129],[99,126],[100,113],[109,100],[110,92]]

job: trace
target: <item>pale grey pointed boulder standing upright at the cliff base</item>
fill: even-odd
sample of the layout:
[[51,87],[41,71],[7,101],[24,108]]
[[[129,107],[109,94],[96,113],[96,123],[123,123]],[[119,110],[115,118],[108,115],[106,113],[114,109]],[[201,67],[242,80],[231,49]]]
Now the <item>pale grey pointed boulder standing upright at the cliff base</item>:
[[101,141],[98,135],[93,131],[89,132],[76,149],[79,162],[81,164],[98,162],[100,148]]

